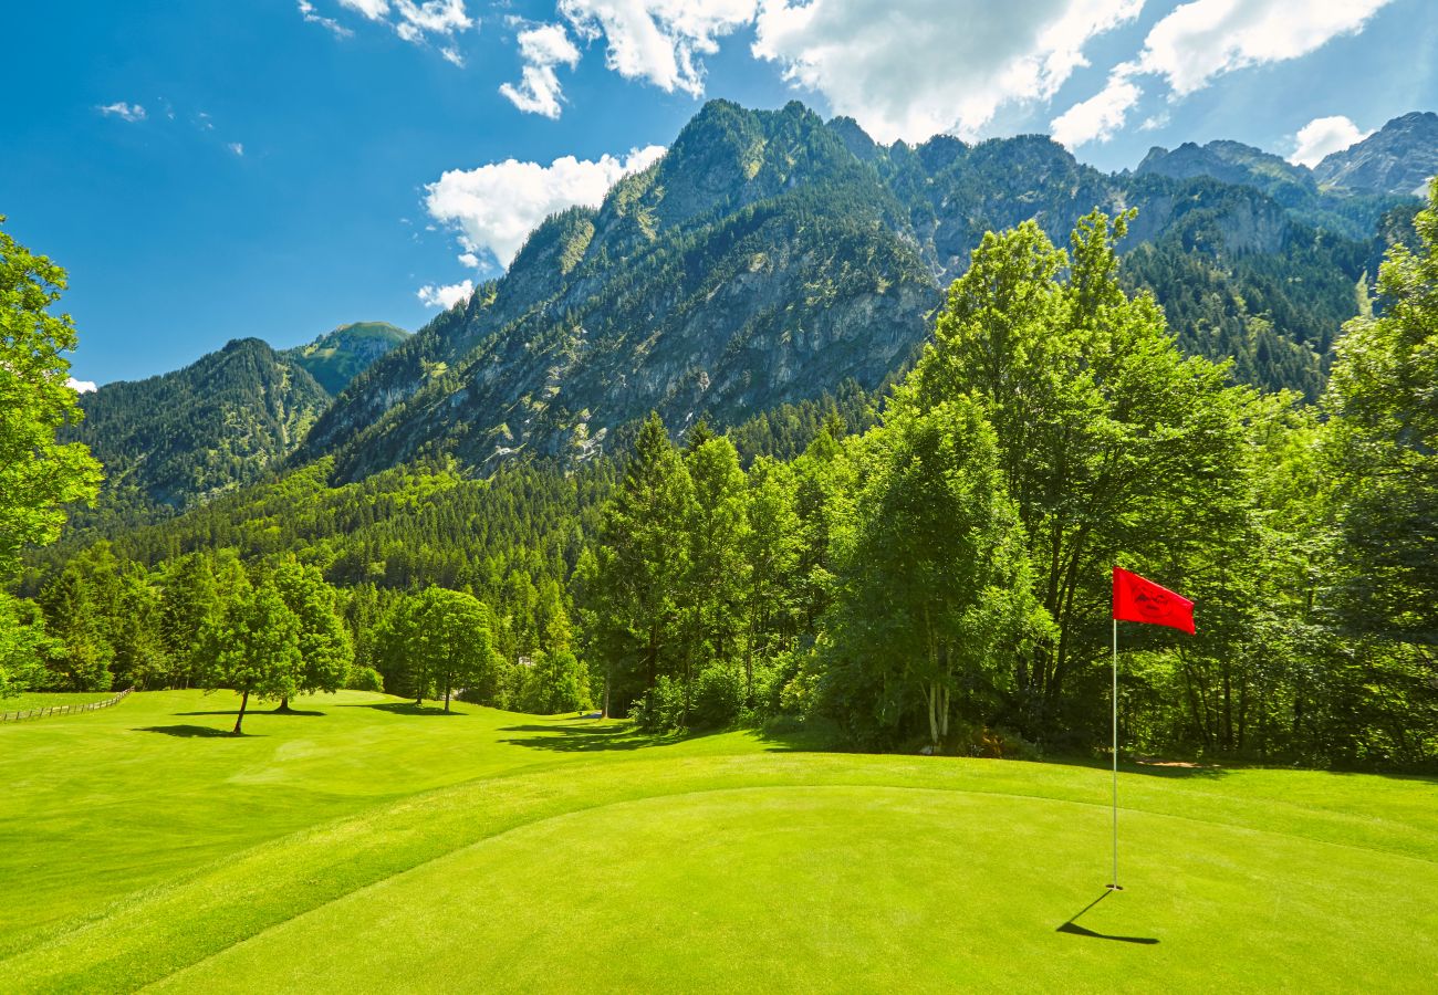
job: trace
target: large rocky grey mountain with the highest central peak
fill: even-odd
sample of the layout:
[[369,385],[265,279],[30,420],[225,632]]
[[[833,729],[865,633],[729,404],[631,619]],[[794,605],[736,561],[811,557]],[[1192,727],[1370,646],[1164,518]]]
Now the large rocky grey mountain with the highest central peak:
[[1109,175],[1041,135],[886,147],[797,102],[713,101],[597,210],[548,219],[508,273],[358,375],[293,459],[332,454],[342,479],[417,456],[578,460],[651,408],[677,430],[846,378],[874,390],[923,344],[986,230],[1032,217],[1064,243],[1094,207],[1139,208],[1125,249],[1150,252],[1130,282],[1171,305],[1185,348],[1316,395],[1357,311],[1376,208],[1314,226],[1284,190],[1320,194],[1283,160],[1235,142],[1183,155],[1229,181],[1152,155]]

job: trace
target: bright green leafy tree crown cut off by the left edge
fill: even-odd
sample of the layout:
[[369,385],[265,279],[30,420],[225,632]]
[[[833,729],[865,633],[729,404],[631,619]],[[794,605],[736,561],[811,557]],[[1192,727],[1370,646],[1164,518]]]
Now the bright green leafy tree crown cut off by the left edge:
[[99,487],[89,450],[55,440],[83,417],[62,355],[75,348],[75,325],[50,313],[65,280],[63,269],[0,230],[0,575],[14,571],[26,545],[53,542],[65,506],[93,500]]

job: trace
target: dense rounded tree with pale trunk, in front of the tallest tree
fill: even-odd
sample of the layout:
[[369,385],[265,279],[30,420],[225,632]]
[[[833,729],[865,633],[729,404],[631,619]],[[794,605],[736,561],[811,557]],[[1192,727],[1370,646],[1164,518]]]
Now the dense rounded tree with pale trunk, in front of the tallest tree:
[[976,404],[900,407],[866,449],[837,536],[825,694],[860,743],[893,745],[922,713],[939,749],[955,696],[992,715],[1007,661],[1050,623]]

